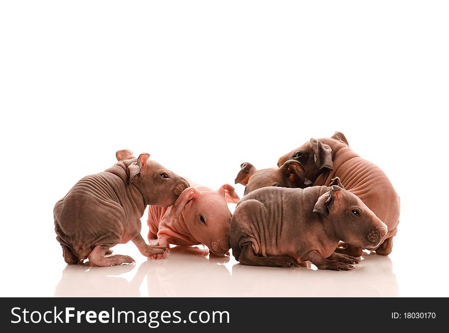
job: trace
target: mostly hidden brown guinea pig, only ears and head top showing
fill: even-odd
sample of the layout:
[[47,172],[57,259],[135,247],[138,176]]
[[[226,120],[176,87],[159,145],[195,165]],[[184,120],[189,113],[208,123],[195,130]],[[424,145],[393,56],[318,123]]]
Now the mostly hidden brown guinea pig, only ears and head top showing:
[[304,166],[293,159],[286,161],[279,168],[257,170],[253,164],[248,162],[242,163],[240,168],[235,183],[245,186],[245,195],[267,186],[304,188],[312,184],[305,178]]

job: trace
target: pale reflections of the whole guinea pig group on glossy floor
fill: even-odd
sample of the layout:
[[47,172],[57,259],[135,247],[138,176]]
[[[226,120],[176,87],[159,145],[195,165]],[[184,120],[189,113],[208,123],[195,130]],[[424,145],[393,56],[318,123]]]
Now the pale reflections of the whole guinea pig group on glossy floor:
[[[388,296],[399,295],[388,257],[369,254],[351,272],[243,266],[208,258],[199,248],[172,248],[167,260],[119,267],[68,265],[55,296]],[[228,262],[228,263],[227,263]],[[129,279],[122,277],[128,275]]]

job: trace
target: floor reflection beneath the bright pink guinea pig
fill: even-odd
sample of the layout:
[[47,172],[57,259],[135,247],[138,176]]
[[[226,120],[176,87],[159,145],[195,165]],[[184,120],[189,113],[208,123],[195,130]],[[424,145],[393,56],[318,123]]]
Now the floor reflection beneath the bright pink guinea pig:
[[197,247],[176,246],[167,260],[145,262],[155,268],[147,273],[151,297],[229,296],[231,274],[223,261],[229,257],[206,258],[208,251]]

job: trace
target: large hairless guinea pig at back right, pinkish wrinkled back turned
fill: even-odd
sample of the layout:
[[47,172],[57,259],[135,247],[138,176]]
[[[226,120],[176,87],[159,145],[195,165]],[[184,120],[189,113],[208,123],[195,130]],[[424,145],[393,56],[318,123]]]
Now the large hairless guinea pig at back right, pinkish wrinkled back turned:
[[[334,177],[339,177],[348,191],[358,196],[388,227],[388,233],[375,251],[379,255],[389,255],[399,224],[400,199],[388,177],[377,166],[357,155],[348,145],[341,132],[332,137],[310,139],[279,158],[278,165],[295,159],[304,165],[306,178],[313,185],[328,185]],[[348,243],[345,248],[337,248],[339,253],[359,257],[362,249]]]

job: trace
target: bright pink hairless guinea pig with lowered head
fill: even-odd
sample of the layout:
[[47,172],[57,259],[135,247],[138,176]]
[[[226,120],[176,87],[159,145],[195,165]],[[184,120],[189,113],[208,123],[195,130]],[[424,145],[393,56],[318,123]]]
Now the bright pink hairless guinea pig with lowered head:
[[237,203],[234,187],[222,185],[218,190],[191,184],[172,207],[148,208],[148,241],[167,246],[205,244],[217,256],[230,249],[231,212],[227,203]]

